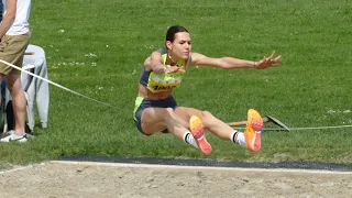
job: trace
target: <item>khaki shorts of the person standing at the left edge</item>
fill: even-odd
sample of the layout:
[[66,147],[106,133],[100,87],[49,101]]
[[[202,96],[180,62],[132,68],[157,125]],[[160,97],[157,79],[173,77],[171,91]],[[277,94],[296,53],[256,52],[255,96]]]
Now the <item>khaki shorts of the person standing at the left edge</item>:
[[[22,35],[3,35],[0,42],[0,59],[22,67],[24,52],[30,44],[30,33]],[[12,69],[15,68],[0,63],[1,74],[8,75]]]

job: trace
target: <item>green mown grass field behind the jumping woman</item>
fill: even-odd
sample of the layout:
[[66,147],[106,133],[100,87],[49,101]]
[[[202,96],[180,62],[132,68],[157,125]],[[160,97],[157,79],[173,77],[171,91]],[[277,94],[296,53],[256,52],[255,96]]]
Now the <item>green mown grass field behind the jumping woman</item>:
[[283,64],[191,68],[175,91],[178,105],[224,121],[255,108],[293,128],[351,125],[351,10],[348,0],[34,0],[31,43],[45,50],[50,79],[114,108],[51,86],[50,128],[37,119],[34,140],[0,144],[0,164],[69,155],[352,164],[352,128],[266,131],[260,153],[209,134],[206,156],[167,134],[143,136],[132,119],[142,63],[163,46],[167,26],[180,24],[194,52],[260,59],[276,50]]

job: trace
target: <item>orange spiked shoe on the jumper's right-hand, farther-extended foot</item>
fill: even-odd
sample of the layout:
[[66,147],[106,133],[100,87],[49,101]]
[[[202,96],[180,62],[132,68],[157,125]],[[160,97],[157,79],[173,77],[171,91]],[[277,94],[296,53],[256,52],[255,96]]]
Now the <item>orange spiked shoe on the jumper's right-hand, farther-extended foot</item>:
[[254,109],[248,111],[248,121],[244,131],[246,147],[253,152],[261,150],[261,133],[263,129],[263,119]]

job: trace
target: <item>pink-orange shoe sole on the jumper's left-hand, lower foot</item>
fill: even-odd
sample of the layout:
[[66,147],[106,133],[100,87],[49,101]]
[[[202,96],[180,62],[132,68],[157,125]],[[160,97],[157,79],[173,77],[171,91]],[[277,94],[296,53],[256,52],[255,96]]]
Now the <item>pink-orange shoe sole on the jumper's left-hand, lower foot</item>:
[[189,119],[189,128],[190,128],[191,134],[194,135],[197,142],[198,148],[204,154],[210,154],[211,145],[208,143],[206,139],[205,128],[201,123],[201,120],[196,116],[191,116]]

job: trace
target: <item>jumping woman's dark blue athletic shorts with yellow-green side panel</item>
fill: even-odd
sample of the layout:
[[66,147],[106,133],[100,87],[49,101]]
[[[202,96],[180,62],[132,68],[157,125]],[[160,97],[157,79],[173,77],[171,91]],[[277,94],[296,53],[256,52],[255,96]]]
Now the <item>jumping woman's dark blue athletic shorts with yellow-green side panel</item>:
[[143,133],[142,125],[141,125],[142,112],[145,108],[148,108],[148,107],[173,108],[175,110],[177,108],[177,103],[173,96],[169,96],[168,98],[162,99],[162,100],[147,100],[142,97],[136,97],[135,107],[133,111],[133,119],[134,119],[135,127],[142,133]]

